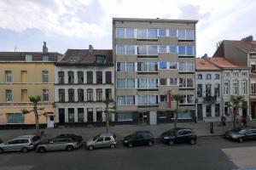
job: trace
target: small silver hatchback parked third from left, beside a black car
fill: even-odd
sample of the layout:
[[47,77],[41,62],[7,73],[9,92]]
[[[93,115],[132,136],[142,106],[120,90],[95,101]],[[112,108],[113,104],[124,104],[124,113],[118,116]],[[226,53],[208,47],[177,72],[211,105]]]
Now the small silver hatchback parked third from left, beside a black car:
[[94,150],[95,148],[115,148],[117,144],[116,136],[113,133],[101,133],[86,141],[86,148]]

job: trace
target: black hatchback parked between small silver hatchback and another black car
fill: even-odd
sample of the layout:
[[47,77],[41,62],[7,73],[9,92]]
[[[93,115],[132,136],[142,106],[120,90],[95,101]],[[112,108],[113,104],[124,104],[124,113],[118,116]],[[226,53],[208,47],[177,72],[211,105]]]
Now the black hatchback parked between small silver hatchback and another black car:
[[153,145],[154,137],[149,131],[137,131],[136,133],[125,136],[125,146],[132,147],[138,145]]

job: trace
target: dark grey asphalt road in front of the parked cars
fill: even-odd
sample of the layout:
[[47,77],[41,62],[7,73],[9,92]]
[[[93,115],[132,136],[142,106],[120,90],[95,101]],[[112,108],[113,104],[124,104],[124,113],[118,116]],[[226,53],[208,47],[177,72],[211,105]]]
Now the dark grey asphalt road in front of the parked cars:
[[[154,146],[125,148],[121,144],[111,149],[52,151],[39,154],[34,150],[23,154],[20,152],[3,153],[0,155],[1,170],[68,170],[68,169],[196,169],[217,170],[237,169],[240,166],[236,156],[231,157],[232,150],[256,148],[256,141],[236,143],[222,137],[201,137],[197,144],[177,144],[168,146],[156,142]],[[228,150],[225,152],[225,150]],[[251,149],[250,149],[251,150]],[[249,151],[248,151],[249,152]],[[249,156],[255,156],[253,150]],[[246,152],[247,153],[247,152]],[[236,153],[237,155],[237,153]],[[247,157],[244,156],[245,160]],[[248,157],[249,159],[249,157]],[[249,161],[253,166],[252,162]],[[256,167],[256,165],[255,165]]]

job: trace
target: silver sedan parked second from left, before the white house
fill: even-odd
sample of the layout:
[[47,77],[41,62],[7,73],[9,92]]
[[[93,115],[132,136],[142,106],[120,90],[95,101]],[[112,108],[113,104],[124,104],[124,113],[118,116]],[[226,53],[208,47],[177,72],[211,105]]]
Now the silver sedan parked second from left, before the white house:
[[49,150],[67,150],[72,151],[79,148],[79,142],[71,138],[55,138],[49,139],[45,144],[39,144],[37,147],[38,152],[43,153]]

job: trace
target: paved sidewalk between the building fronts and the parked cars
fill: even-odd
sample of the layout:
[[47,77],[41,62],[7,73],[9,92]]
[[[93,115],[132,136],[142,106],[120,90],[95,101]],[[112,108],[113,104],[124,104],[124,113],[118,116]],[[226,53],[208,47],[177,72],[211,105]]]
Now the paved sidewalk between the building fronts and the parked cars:
[[[177,127],[189,127],[192,128],[197,136],[215,136],[222,135],[225,131],[230,130],[233,127],[232,122],[226,122],[225,127],[218,127],[219,122],[214,122],[214,133],[210,133],[209,122],[186,122],[177,123]],[[248,125],[255,126],[256,122],[248,122]],[[153,133],[154,138],[159,138],[160,134],[173,128],[173,123],[162,123],[158,125],[116,125],[109,127],[109,132],[115,133],[118,140],[122,140],[125,135],[133,133],[137,130],[148,130]],[[67,128],[46,128],[42,129],[48,138],[54,137],[61,133],[75,133],[83,136],[83,138],[89,139],[96,136],[98,133],[106,132],[106,127],[67,127]],[[35,133],[35,129],[15,129],[15,130],[0,130],[0,139],[6,140],[14,138],[22,134]]]

